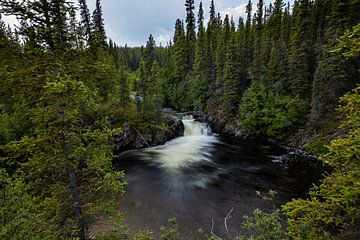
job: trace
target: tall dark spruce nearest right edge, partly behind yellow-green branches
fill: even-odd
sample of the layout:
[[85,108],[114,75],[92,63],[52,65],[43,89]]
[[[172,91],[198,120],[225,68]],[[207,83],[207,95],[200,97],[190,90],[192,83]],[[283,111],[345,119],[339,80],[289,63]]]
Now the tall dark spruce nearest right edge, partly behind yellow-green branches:
[[[360,3],[357,6],[360,7]],[[338,99],[355,86],[356,74],[354,73],[356,71],[353,65],[346,62],[340,53],[333,51],[337,45],[337,37],[340,37],[346,25],[351,26],[354,20],[350,22],[348,20],[349,16],[354,16],[352,15],[353,7],[354,5],[350,2],[346,4],[333,1],[330,17],[327,18],[329,26],[322,40],[324,42],[319,51],[320,61],[312,83],[309,124],[317,130],[321,130],[324,123],[334,118]],[[341,14],[338,12],[340,9]],[[360,17],[357,19],[360,20]]]

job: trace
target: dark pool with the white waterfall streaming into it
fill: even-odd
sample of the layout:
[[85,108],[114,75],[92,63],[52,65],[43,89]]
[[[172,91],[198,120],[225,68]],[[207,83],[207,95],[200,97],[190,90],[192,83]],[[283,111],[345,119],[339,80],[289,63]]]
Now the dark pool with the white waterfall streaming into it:
[[[184,236],[213,228],[214,234],[228,239],[239,233],[244,214],[304,197],[321,178],[320,162],[261,141],[215,136],[206,123],[192,117],[183,123],[183,137],[125,152],[116,161],[128,182],[121,210],[135,232],[159,229],[175,217]],[[278,193],[272,203],[256,195],[269,190]],[[224,218],[230,211],[226,229]]]

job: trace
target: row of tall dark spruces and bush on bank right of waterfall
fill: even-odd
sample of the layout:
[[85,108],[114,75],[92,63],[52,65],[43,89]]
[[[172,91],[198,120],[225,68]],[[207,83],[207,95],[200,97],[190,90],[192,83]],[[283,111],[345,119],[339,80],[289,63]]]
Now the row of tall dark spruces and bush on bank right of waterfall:
[[360,21],[359,1],[259,1],[256,11],[249,1],[246,19],[238,20],[222,19],[211,1],[207,25],[201,2],[197,18],[194,1],[185,6],[185,21],[176,21],[161,52],[166,62],[145,60],[148,76],[152,64],[161,66],[158,80],[148,81],[161,82],[156,92],[165,106],[282,139],[304,126],[321,131],[339,97],[360,80],[359,58],[334,51],[337,38]]

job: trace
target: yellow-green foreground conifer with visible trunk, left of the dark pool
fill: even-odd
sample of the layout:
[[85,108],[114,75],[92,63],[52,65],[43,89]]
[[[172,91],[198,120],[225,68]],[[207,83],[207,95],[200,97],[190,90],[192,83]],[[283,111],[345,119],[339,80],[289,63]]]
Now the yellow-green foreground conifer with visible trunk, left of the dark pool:
[[111,167],[113,131],[104,119],[98,127],[83,120],[97,111],[88,90],[83,82],[52,75],[31,111],[36,135],[8,150],[26,153],[21,174],[41,215],[63,239],[87,239],[94,214],[110,209],[124,189]]

